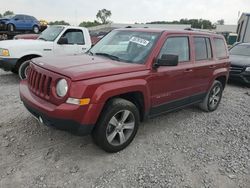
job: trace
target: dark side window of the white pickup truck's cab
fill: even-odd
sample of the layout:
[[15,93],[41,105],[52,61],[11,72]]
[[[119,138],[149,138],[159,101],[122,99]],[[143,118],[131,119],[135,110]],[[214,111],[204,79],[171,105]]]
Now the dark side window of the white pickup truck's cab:
[[75,29],[70,29],[67,30],[64,34],[63,37],[68,39],[69,44],[85,44],[84,42],[84,36],[81,30],[75,30]]

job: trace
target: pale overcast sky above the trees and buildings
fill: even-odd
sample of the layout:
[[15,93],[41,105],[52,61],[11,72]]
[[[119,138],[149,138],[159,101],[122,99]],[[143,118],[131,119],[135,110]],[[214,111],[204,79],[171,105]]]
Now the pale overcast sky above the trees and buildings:
[[[3,1],[3,0],[1,0]],[[0,13],[11,10],[47,21],[65,20],[72,25],[96,19],[98,10],[112,12],[114,23],[208,19],[237,24],[239,13],[250,13],[250,0],[8,0]]]

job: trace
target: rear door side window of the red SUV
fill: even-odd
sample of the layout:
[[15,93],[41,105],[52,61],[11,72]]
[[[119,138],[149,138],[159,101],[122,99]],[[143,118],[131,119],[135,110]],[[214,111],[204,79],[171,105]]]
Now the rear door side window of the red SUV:
[[195,60],[208,60],[212,58],[211,43],[209,38],[195,37]]

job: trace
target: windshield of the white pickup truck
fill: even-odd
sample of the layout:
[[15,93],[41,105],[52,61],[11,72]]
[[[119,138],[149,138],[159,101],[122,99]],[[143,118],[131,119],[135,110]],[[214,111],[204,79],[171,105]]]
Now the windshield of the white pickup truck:
[[63,26],[51,26],[42,32],[38,40],[54,41],[64,29]]

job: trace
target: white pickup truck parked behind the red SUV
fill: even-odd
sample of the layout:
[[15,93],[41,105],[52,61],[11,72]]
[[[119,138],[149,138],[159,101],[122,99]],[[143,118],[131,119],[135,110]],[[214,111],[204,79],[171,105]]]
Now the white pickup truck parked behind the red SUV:
[[29,60],[42,56],[83,54],[91,48],[89,32],[83,27],[50,26],[36,40],[0,41],[0,68],[27,75]]

